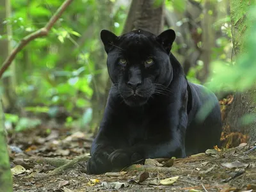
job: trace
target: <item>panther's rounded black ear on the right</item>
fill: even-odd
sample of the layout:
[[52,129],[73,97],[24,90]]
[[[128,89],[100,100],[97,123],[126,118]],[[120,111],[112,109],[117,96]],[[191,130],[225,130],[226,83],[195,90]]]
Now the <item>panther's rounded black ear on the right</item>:
[[167,29],[158,35],[156,39],[169,54],[172,49],[172,44],[175,40],[175,37],[175,31],[173,31],[173,29]]

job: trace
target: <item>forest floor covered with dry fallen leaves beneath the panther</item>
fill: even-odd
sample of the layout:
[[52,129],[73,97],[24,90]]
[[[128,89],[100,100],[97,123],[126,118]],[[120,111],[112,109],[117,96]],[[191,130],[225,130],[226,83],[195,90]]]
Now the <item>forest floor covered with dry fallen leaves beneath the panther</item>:
[[[231,102],[220,102],[223,119]],[[147,159],[145,166],[102,175],[87,175],[82,159],[52,175],[71,159],[88,156],[93,137],[45,122],[8,136],[13,191],[256,191],[256,150],[248,136],[223,128],[220,148],[184,159]]]

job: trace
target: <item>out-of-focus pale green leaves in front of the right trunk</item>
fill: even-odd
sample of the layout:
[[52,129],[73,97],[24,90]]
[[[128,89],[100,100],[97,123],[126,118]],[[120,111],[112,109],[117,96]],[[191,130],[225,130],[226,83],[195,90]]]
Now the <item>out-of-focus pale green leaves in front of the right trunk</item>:
[[[244,52],[239,54],[234,62],[214,61],[212,62],[212,81],[208,86],[220,92],[225,90],[237,90],[243,92],[250,89],[255,83],[256,70],[256,7],[252,7],[248,12],[250,26],[247,26],[248,32],[244,41]],[[245,36],[245,35],[244,35]]]

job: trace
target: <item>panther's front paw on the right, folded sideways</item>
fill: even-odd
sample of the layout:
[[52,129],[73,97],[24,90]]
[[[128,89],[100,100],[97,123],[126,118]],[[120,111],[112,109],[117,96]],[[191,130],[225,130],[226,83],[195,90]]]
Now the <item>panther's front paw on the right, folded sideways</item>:
[[143,160],[140,154],[129,149],[115,150],[109,155],[108,159],[116,171],[134,163],[141,163],[140,161]]

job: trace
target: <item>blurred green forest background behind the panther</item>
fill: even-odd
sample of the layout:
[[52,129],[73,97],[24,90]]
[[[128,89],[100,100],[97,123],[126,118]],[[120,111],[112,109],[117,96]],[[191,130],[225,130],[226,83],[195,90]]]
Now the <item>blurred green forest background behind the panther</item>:
[[[163,29],[175,30],[172,52],[189,81],[205,84],[223,99],[255,85],[255,12],[247,17],[251,21],[244,19],[253,23],[252,28],[246,25],[246,48],[237,48],[236,52],[230,2],[209,2],[157,0],[154,6],[164,3]],[[24,36],[44,27],[61,3],[1,1],[0,63]],[[21,131],[54,120],[76,130],[97,130],[110,86],[100,30],[121,35],[130,4],[131,0],[74,1],[47,37],[33,40],[22,49],[1,79],[6,126]],[[249,13],[247,7],[237,11]],[[240,36],[233,41],[239,41]],[[235,59],[239,52],[244,54]]]

